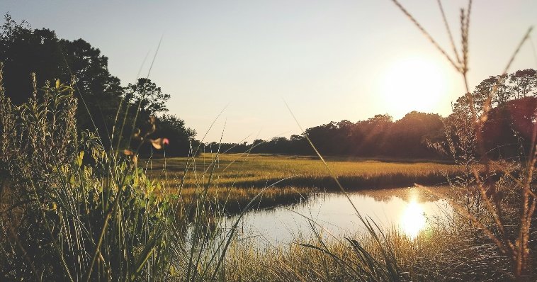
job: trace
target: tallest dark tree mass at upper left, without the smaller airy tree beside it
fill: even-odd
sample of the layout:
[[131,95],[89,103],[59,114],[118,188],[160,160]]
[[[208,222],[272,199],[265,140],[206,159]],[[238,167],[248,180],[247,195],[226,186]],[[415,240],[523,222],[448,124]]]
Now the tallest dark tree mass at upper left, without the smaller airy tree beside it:
[[108,58],[84,40],[63,40],[52,30],[31,29],[9,14],[5,20],[0,28],[0,61],[5,64],[6,96],[16,104],[28,100],[33,92],[31,73],[36,74],[37,85],[74,80],[75,95],[81,100],[77,125],[94,130],[95,123],[101,136],[108,135],[123,94],[120,80],[108,72]]

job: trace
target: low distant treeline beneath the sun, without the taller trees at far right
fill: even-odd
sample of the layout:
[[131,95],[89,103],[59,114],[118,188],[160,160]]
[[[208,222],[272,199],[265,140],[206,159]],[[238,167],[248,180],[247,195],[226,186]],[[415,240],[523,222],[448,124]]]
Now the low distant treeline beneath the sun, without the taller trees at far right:
[[[414,111],[395,122],[390,115],[375,115],[356,123],[349,120],[331,122],[307,128],[305,135],[324,155],[431,159],[438,158],[439,154],[425,140],[443,135],[443,124],[439,115]],[[225,143],[220,145],[220,151],[247,152],[251,149],[254,153],[315,154],[305,135],[255,140],[250,144]],[[216,142],[205,146],[206,151],[214,152],[217,148]]]

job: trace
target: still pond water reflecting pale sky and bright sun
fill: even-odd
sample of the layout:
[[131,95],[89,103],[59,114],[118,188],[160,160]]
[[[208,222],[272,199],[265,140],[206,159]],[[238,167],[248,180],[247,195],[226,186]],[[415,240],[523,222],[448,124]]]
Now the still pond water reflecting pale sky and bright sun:
[[[445,220],[452,213],[441,195],[445,188],[397,188],[349,193],[349,198],[364,218],[371,218],[380,228],[396,228],[410,239],[424,232],[433,222]],[[228,218],[229,228],[237,217]],[[239,222],[238,239],[256,244],[276,245],[303,241],[314,236],[315,227],[324,239],[365,234],[363,223],[342,193],[318,193],[302,203],[270,210],[246,213]]]

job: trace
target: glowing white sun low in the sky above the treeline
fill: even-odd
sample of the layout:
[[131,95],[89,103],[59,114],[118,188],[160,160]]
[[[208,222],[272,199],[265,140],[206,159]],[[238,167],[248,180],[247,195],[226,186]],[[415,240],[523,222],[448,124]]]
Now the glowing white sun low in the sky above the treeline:
[[431,113],[447,94],[446,73],[441,64],[409,57],[392,64],[383,75],[380,94],[386,111],[400,118],[411,111]]

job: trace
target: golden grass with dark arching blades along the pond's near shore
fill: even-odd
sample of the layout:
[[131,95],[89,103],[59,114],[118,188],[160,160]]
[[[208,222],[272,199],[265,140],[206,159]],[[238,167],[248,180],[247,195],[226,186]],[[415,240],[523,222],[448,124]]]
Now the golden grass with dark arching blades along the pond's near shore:
[[[241,240],[230,248],[222,272],[229,281],[511,280],[509,258],[499,254],[485,235],[461,228],[466,224],[465,218],[454,215],[453,220],[435,222],[413,239],[395,228],[373,228],[381,242],[371,232],[328,240],[299,236],[294,244],[271,247],[244,247],[256,244]],[[320,225],[312,225],[312,230],[323,233]],[[355,244],[367,255],[357,254]],[[390,266],[388,250],[396,259]],[[388,275],[389,267],[399,272]],[[377,276],[371,276],[374,273]]]

